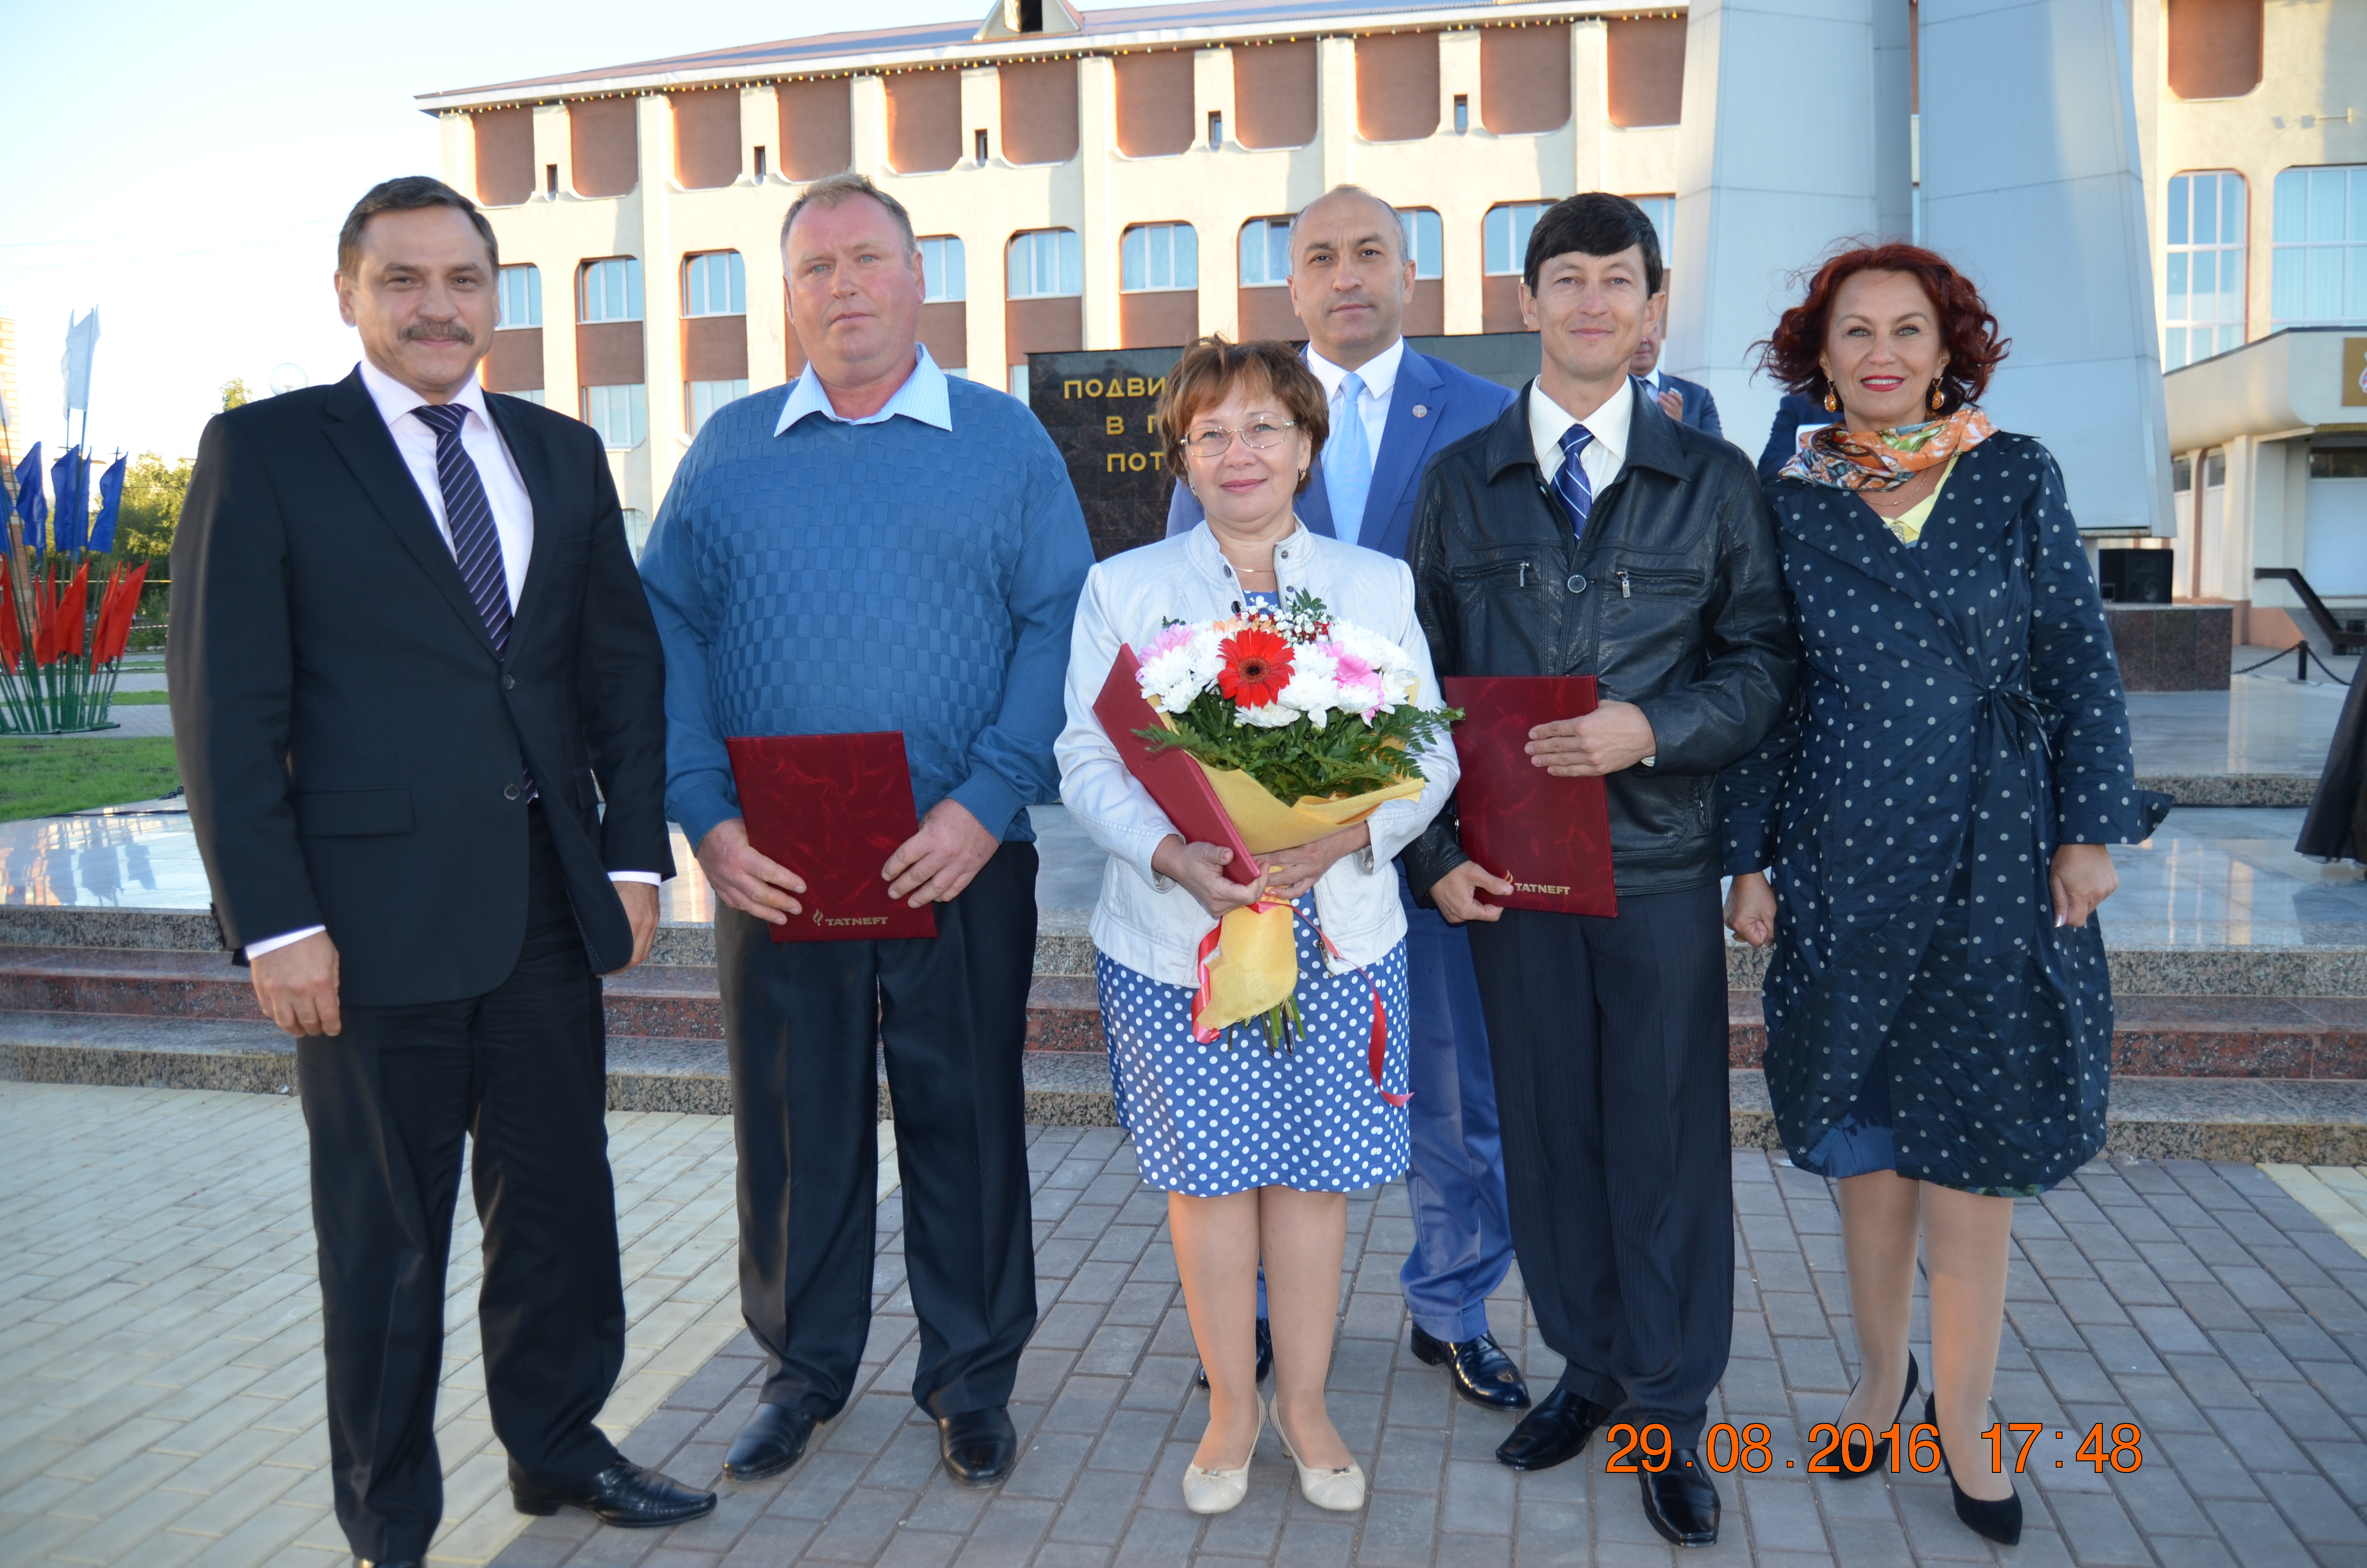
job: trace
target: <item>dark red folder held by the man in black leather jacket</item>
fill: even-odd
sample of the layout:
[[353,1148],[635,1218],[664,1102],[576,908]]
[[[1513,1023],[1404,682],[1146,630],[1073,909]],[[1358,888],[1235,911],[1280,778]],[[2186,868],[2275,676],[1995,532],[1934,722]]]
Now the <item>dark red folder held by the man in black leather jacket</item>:
[[1449,675],[1456,725],[1456,810],[1463,853],[1513,883],[1505,910],[1619,914],[1602,779],[1555,779],[1529,760],[1529,730],[1595,711],[1593,675]]

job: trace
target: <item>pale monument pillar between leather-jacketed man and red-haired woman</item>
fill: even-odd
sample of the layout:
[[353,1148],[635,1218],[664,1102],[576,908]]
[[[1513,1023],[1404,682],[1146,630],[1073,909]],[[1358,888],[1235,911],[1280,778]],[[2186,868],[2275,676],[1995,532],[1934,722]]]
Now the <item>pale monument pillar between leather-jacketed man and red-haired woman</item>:
[[1685,287],[1666,362],[1709,386],[1747,452],[1782,396],[1752,374],[1752,343],[1797,303],[1799,268],[1875,227],[1875,5],[1695,0],[1685,12],[1673,256]]

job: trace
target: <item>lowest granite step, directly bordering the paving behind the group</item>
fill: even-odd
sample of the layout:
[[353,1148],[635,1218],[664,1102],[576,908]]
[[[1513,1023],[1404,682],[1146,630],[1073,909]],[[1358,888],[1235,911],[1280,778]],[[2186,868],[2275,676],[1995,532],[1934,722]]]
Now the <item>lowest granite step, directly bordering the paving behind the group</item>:
[[[1025,1116],[1115,1127],[1110,1073],[1084,1052],[1027,1052]],[[0,1080],[291,1094],[296,1042],[270,1023],[121,1014],[0,1011]],[[1766,1078],[1728,1073],[1733,1146],[1780,1149]],[[608,1040],[615,1111],[731,1113],[720,1040]],[[885,1118],[881,1073],[878,1113]],[[2367,1082],[2308,1078],[2114,1078],[2107,1153],[2133,1158],[2367,1163]]]

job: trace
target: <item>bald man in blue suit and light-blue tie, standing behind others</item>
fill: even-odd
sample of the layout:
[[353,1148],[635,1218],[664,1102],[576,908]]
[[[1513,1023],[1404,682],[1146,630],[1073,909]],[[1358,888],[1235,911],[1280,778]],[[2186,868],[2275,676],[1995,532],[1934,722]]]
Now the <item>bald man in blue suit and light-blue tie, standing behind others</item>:
[[[1413,261],[1397,208],[1380,197],[1340,185],[1290,223],[1290,308],[1307,327],[1307,367],[1323,381],[1333,426],[1299,521],[1399,559],[1430,457],[1513,403],[1510,388],[1406,346],[1411,298]],[[1198,526],[1200,505],[1176,486],[1167,533]],[[1513,1262],[1513,1227],[1470,936],[1418,910],[1404,876],[1399,898],[1413,1002],[1413,1251],[1399,1279],[1413,1355],[1446,1367],[1463,1397],[1522,1409],[1520,1367],[1486,1326],[1486,1296]]]

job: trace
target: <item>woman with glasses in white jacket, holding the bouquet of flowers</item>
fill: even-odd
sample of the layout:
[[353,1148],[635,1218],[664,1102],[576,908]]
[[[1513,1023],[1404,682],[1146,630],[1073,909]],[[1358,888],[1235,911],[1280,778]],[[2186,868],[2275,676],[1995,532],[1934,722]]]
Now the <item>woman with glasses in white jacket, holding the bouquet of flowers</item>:
[[[1212,621],[1295,590],[1394,640],[1439,706],[1430,644],[1404,561],[1321,538],[1292,500],[1323,448],[1323,386],[1283,343],[1193,346],[1167,377],[1160,436],[1169,467],[1207,512],[1186,535],[1117,554],[1086,576],[1068,663],[1060,798],[1110,853],[1094,905],[1096,978],[1117,1113],[1143,1182],[1165,1187],[1184,1305],[1210,1383],[1207,1433],[1184,1473],[1186,1506],[1221,1514],[1247,1490],[1266,1409],[1257,1397],[1257,1270],[1273,1326],[1273,1426],[1299,1490],[1323,1509],[1363,1506],[1363,1469],[1330,1421],[1330,1371],[1347,1244],[1347,1194],[1406,1170],[1406,1111],[1373,1082],[1366,1042],[1378,983],[1389,1026],[1385,1080],[1406,1090],[1406,917],[1389,862],[1456,784],[1446,741],[1420,753],[1420,798],[1356,827],[1262,857],[1257,881],[1226,879],[1231,853],[1186,843],[1127,772],[1094,699],[1120,644],[1165,621]],[[1255,1028],[1195,1045],[1200,938],[1238,905],[1292,900],[1307,1033],[1269,1054]],[[1359,973],[1363,971],[1363,973]]]

